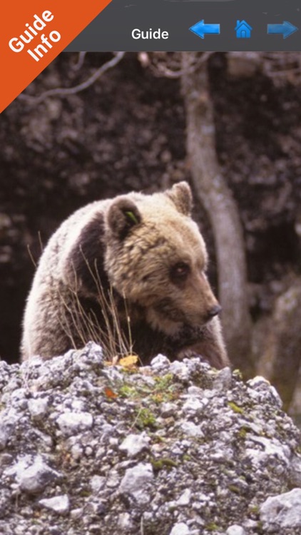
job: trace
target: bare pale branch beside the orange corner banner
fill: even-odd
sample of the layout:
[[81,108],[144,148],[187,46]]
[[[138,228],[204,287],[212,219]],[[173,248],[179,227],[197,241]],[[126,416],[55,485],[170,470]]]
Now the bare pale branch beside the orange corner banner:
[[93,83],[98,78],[100,78],[100,76],[103,75],[103,73],[108,71],[110,68],[115,67],[117,63],[121,61],[121,59],[123,58],[125,54],[126,52],[117,52],[110,61],[103,63],[103,65],[99,67],[97,71],[95,71],[95,73],[93,73],[92,76],[88,78],[88,80],[82,83],[79,83],[78,86],[73,86],[73,87],[68,87],[68,88],[58,87],[55,89],[49,89],[49,91],[44,91],[44,93],[41,93],[41,95],[39,96],[30,96],[30,95],[21,93],[21,95],[19,95],[18,98],[21,101],[25,101],[25,102],[32,103],[32,104],[37,104],[37,103],[44,101],[46,98],[49,98],[50,96],[63,96],[64,97],[64,96],[74,95],[76,93],[79,93],[80,91],[84,91],[84,89],[92,86]]

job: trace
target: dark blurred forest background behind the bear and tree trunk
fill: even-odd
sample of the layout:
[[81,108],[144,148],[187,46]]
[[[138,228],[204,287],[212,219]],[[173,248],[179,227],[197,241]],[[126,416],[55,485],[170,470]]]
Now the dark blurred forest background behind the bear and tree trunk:
[[[83,91],[58,91],[85,83],[112,57],[61,54],[2,113],[1,358],[19,360],[22,314],[41,248],[91,200],[188,180],[218,292],[213,214],[199,202],[187,145],[188,92],[200,91],[200,108],[211,113],[215,165],[243,232],[251,349],[243,355],[234,348],[233,361],[242,369],[251,362],[246,369],[270,377],[288,406],[301,360],[300,54],[205,53],[188,71],[181,54],[127,53]],[[185,76],[200,70],[205,82],[191,89]],[[223,261],[225,277],[227,269]]]

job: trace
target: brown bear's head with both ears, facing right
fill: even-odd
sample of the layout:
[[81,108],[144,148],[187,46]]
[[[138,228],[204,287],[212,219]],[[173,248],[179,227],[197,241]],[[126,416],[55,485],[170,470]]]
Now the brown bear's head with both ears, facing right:
[[167,335],[204,325],[220,312],[205,275],[208,254],[181,182],[164,193],[130,193],[106,213],[105,268],[115,290]]

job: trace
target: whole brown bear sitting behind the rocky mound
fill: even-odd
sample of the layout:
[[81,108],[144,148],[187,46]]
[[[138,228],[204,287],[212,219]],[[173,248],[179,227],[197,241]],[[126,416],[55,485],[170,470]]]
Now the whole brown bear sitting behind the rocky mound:
[[114,338],[117,353],[126,340],[143,364],[160,352],[228,365],[191,208],[190,187],[181,182],[163,193],[96,201],[65,220],[36,270],[22,359],[49,359],[91,339],[106,348]]

